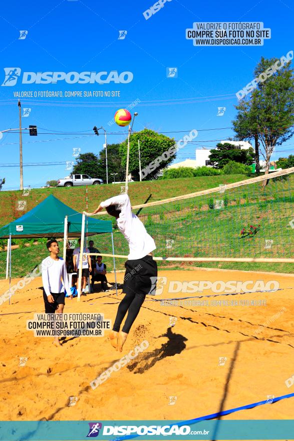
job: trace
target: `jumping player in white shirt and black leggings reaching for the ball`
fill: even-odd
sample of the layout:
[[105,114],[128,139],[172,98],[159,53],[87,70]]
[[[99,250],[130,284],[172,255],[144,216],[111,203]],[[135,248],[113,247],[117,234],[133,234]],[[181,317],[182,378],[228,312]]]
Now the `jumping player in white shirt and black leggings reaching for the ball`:
[[[101,202],[93,213],[85,214],[96,214],[103,208],[117,219],[118,228],[128,241],[130,248],[130,254],[125,263],[126,273],[123,286],[123,292],[126,295],[119,304],[109,337],[112,346],[121,352],[146,294],[149,294],[151,287],[154,288],[151,277],[157,277],[157,264],[152,258],[152,251],[156,249],[156,246],[141,220],[132,213],[131,202],[127,194],[111,197]],[[126,321],[120,331],[127,312]]]

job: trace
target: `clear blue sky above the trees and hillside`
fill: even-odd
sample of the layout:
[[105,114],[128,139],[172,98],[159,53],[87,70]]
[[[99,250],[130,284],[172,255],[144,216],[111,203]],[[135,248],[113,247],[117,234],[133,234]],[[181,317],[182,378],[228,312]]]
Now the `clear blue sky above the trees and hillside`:
[[[131,111],[139,113],[134,130],[148,127],[179,132],[169,136],[180,139],[197,129],[198,148],[213,148],[217,140],[234,136],[227,127],[236,114],[235,93],[252,80],[260,57],[280,58],[294,49],[293,8],[288,0],[171,0],[145,20],[143,12],[152,4],[153,0],[53,0],[3,5],[1,84],[6,67],[19,67],[22,73],[133,73],[128,84],[22,84],[19,80],[15,86],[0,87],[0,130],[18,127],[16,91],[120,91],[120,97],[22,98],[22,107],[32,109],[30,116],[23,118],[23,127],[37,125],[40,133],[38,137],[23,134],[24,164],[71,161],[76,147],[81,152],[98,153],[104,137],[92,136],[94,125],[107,129],[108,143],[122,141],[126,129],[108,122],[117,109],[136,99],[140,103]],[[271,29],[271,39],[259,47],[196,47],[185,38],[185,30],[192,28],[193,22],[263,22],[264,28]],[[19,40],[20,30],[28,30],[26,39]],[[127,31],[124,40],[118,39],[121,30]],[[167,67],[177,67],[178,77],[167,78]],[[179,103],[181,99],[184,104]],[[221,117],[217,116],[218,107],[226,107]],[[290,139],[277,147],[272,158],[288,156],[293,145]],[[194,159],[195,148],[195,144],[188,144],[177,160]],[[6,177],[6,189],[17,189],[19,168],[3,165],[19,163],[19,134],[4,134],[0,152],[0,177]],[[65,164],[25,166],[24,185],[42,186],[67,174]]]

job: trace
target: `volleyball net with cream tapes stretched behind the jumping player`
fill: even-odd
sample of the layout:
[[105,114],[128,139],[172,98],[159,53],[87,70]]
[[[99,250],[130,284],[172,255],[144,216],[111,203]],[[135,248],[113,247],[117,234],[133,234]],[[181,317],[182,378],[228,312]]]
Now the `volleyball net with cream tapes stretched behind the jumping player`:
[[[153,237],[157,261],[294,263],[293,202],[294,167],[153,200],[132,212]],[[99,235],[94,254],[113,259],[115,267],[129,248],[115,220],[113,226],[112,241]],[[86,240],[82,227],[81,247]]]

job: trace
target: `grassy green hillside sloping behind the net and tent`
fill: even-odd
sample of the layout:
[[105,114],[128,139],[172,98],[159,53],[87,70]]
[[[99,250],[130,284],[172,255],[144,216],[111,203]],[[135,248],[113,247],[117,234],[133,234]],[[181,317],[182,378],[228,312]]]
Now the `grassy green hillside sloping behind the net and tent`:
[[[147,231],[154,237],[158,256],[223,256],[223,257],[292,257],[293,232],[288,223],[294,201],[294,176],[285,180],[270,180],[265,191],[260,184],[250,184],[227,190],[225,195],[214,193],[183,199],[178,202],[140,210],[139,216]],[[162,200],[173,196],[196,192],[246,179],[244,175],[204,176],[133,182],[129,185],[132,205]],[[121,192],[122,184],[91,186],[88,188],[88,209],[94,210],[101,200]],[[86,188],[33,189],[29,196],[22,197],[20,191],[0,193],[0,226],[6,225],[23,212],[16,209],[19,199],[27,200],[28,210],[40,203],[49,194],[54,194],[72,208],[86,209]],[[217,200],[223,199],[223,209],[217,209]],[[247,223],[261,225],[254,237],[240,238],[240,230]],[[255,225],[255,224],[254,224]],[[172,248],[166,241],[173,240]],[[264,250],[265,240],[273,240],[272,247]],[[95,246],[101,253],[111,253],[109,235],[94,237]],[[128,254],[128,246],[122,235],[114,233],[116,254]],[[287,244],[287,245],[286,245]],[[61,244],[62,248],[62,244]],[[47,256],[45,244],[12,251],[13,277],[22,277],[32,271]],[[113,269],[111,258],[105,258],[109,269]],[[117,268],[124,268],[124,261],[117,259]],[[162,262],[161,266],[181,268],[181,262]],[[201,263],[197,267],[217,267],[252,271],[293,272],[292,264],[245,264],[245,263]],[[6,253],[0,253],[0,278],[5,277]]]

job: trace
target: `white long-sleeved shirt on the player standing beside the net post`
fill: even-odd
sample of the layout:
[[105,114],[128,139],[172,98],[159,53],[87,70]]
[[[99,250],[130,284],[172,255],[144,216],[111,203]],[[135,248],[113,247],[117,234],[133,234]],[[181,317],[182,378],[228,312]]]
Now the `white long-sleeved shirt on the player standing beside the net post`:
[[42,281],[47,296],[50,296],[51,293],[64,293],[64,289],[68,294],[71,294],[66,264],[61,257],[58,260],[53,260],[48,256],[42,261]]

